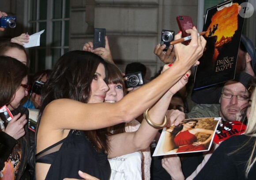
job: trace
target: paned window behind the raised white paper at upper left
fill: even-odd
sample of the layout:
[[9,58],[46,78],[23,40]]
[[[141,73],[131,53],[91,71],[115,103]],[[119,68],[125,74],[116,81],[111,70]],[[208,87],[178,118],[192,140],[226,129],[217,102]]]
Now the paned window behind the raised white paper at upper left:
[[28,0],[29,34],[43,29],[40,46],[29,48],[31,73],[51,69],[68,51],[70,0]]

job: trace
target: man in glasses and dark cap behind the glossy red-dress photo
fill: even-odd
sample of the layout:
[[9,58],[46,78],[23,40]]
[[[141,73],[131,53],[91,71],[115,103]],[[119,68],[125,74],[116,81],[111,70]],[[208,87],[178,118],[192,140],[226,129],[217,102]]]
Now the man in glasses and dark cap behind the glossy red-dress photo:
[[198,104],[186,114],[186,118],[221,117],[222,121],[241,121],[244,109],[248,105],[248,88],[251,80],[252,76],[248,73],[236,73],[234,80],[224,84],[220,92],[220,104]]

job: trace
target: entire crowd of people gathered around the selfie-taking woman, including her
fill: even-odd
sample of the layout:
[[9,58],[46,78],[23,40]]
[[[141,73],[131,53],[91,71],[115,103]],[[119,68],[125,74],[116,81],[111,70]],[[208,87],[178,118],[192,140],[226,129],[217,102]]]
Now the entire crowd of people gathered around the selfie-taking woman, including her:
[[[193,91],[197,105],[189,110],[190,69],[200,65],[206,40],[195,26],[187,32],[188,45],[170,45],[167,51],[165,44],[155,46],[166,65],[150,80],[139,62],[122,73],[105,37],[105,48],[87,42],[83,50],[62,55],[52,70],[36,72],[29,83],[23,47],[29,35],[0,43],[0,107],[13,115],[10,121],[0,118],[0,180],[255,179],[254,45],[242,35],[234,79]],[[124,75],[138,71],[144,84],[127,88]],[[38,109],[35,132],[29,129],[31,109]],[[205,151],[214,131],[197,128],[196,118],[216,117],[247,128]],[[204,152],[153,157],[152,143],[165,127],[177,153]],[[200,141],[199,133],[208,136]]]

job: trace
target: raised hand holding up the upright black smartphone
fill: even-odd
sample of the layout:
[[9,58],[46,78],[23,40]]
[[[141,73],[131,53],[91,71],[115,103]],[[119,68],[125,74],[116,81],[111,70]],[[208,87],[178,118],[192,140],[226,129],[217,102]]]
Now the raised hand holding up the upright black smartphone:
[[112,55],[111,55],[111,51],[109,48],[109,40],[108,37],[105,36],[105,48],[93,48],[93,43],[92,42],[88,42],[86,44],[83,45],[83,51],[90,51],[95,53],[96,55],[101,56],[105,61],[111,62],[114,64]]

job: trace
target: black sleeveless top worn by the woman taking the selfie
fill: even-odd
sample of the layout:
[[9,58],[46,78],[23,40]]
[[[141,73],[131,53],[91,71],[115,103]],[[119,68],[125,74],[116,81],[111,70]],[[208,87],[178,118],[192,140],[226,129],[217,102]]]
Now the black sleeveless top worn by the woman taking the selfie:
[[83,131],[71,130],[64,140],[36,154],[36,159],[51,164],[45,180],[81,179],[79,170],[109,180],[111,173],[107,154],[97,151]]

